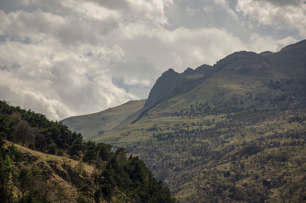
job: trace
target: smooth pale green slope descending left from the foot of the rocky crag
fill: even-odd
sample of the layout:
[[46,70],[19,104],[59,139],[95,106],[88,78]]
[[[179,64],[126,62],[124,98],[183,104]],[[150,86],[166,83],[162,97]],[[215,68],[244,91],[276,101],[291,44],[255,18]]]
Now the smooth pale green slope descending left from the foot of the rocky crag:
[[73,116],[65,118],[62,122],[72,131],[82,133],[84,137],[118,129],[129,125],[142,109],[146,100],[135,100],[88,115]]

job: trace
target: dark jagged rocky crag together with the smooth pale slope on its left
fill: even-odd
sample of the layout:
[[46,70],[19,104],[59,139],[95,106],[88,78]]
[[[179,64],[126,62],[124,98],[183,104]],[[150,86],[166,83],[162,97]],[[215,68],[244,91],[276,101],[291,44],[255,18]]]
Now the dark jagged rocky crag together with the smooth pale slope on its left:
[[103,134],[135,122],[142,112],[158,102],[177,85],[199,79],[211,69],[209,65],[202,65],[195,70],[187,68],[183,73],[176,73],[169,69],[162,73],[151,89],[147,100],[128,101],[118,107],[113,107],[88,115],[72,116],[61,120],[70,130],[82,133],[84,137]]

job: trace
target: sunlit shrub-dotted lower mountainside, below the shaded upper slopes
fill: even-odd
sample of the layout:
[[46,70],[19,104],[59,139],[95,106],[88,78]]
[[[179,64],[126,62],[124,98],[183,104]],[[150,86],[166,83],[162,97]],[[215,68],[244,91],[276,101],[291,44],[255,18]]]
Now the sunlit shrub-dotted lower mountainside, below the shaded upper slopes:
[[[104,139],[101,139],[101,136],[91,138],[98,142],[110,142],[115,146],[126,147],[128,145],[129,151],[133,148],[132,153],[139,154],[150,169],[154,171],[157,178],[166,179],[165,182],[182,202],[208,200],[212,198],[216,186],[224,185],[226,187],[235,186],[243,191],[244,196],[251,193],[258,196],[265,194],[270,201],[279,202],[283,197],[282,195],[285,195],[287,200],[291,196],[295,202],[299,202],[303,198],[302,185],[306,183],[306,174],[303,171],[306,168],[304,159],[306,148],[303,144],[292,143],[294,141],[303,143],[303,139],[273,137],[275,133],[282,132],[305,133],[305,125],[297,122],[288,123],[287,119],[290,117],[290,113],[292,112],[288,111],[287,115],[279,116],[267,115],[263,121],[256,124],[246,125],[237,121],[235,124],[240,123],[241,126],[235,128],[237,130],[235,133],[222,133],[216,137],[200,134],[198,136],[186,136],[185,139],[176,139],[175,141],[158,141],[152,137],[152,132],[139,130],[139,128],[147,129],[156,123],[157,127],[162,128],[161,132],[166,133],[171,131],[166,130],[166,127],[172,128],[175,127],[174,124],[178,123],[203,122],[203,120],[212,120],[212,118],[220,122],[222,120],[227,121],[227,119],[224,118],[225,115],[205,116],[204,118],[193,117],[191,120],[181,117],[158,117],[155,115],[148,118],[146,116],[140,120],[140,124],[125,126],[120,131],[107,133],[104,135]],[[306,115],[305,111],[299,113]],[[193,126],[193,128],[198,127]],[[203,126],[203,129],[212,127],[215,127],[215,125]],[[226,128],[219,130],[226,130]],[[244,133],[245,135],[242,136]],[[226,137],[227,135],[233,137]],[[263,137],[264,141],[259,142],[260,137]],[[220,144],[223,140],[226,143]],[[254,142],[257,145],[280,142],[280,145],[272,148],[265,147],[262,152],[254,155],[231,158],[231,154],[240,153],[245,145],[244,143]],[[204,153],[203,146],[206,145],[209,146],[210,153]],[[230,152],[227,152],[229,149]],[[200,150],[200,152],[194,152],[195,150]],[[217,156],[214,152],[221,156],[214,159],[213,157]],[[287,160],[278,160],[279,156],[282,155],[285,155]],[[298,161],[299,164],[297,164]],[[245,165],[244,170],[241,169],[241,163]],[[229,178],[223,177],[223,173],[226,171],[231,171]],[[270,190],[263,186],[264,179],[272,179]],[[244,183],[247,183],[247,186],[243,186]],[[289,190],[295,186],[297,186],[297,191],[294,193],[296,195],[289,194]],[[230,200],[227,197],[228,194],[231,194],[229,189],[221,193],[223,197],[220,197],[219,200]],[[248,201],[256,200],[255,197],[249,198]]]

